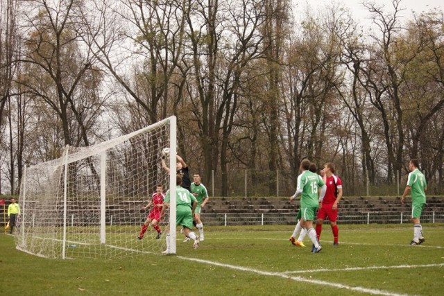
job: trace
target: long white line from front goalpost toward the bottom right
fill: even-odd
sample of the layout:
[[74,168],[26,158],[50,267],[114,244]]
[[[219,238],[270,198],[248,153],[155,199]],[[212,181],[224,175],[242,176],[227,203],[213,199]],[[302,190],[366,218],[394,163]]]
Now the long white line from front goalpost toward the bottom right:
[[203,260],[203,259],[188,258],[188,257],[183,257],[183,256],[177,256],[177,258],[183,259],[183,260],[188,260],[188,261],[195,261],[198,263],[203,263],[203,264],[208,264],[208,265],[220,266],[223,268],[230,268],[232,270],[254,272],[254,273],[257,273],[258,275],[266,275],[266,276],[271,276],[271,277],[282,277],[284,279],[292,279],[293,281],[302,281],[302,282],[309,283],[309,284],[330,286],[330,287],[334,287],[334,288],[353,290],[353,291],[362,292],[362,293],[369,293],[369,294],[373,294],[373,295],[391,295],[391,296],[405,295],[405,294],[388,292],[388,291],[384,291],[384,290],[377,290],[377,289],[369,289],[369,288],[363,288],[363,287],[358,287],[358,286],[347,286],[347,285],[343,285],[343,284],[336,284],[336,283],[331,283],[329,281],[321,281],[318,279],[306,279],[305,277],[299,277],[299,276],[294,277],[291,275],[287,275],[283,272],[267,272],[267,271],[263,271],[263,270],[257,270],[255,268],[246,268],[243,266],[219,263],[219,262],[208,261],[208,260]]

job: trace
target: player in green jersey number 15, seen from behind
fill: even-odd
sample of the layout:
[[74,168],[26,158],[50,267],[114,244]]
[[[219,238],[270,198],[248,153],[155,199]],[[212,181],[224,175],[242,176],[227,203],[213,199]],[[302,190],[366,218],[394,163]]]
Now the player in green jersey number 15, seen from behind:
[[318,243],[316,236],[316,230],[313,228],[313,220],[316,218],[316,211],[319,207],[318,201],[318,189],[321,187],[321,198],[325,195],[325,183],[318,177],[316,173],[309,171],[310,161],[308,159],[302,160],[300,163],[300,175],[298,176],[298,183],[296,192],[291,196],[290,201],[296,198],[298,194],[301,194],[300,199],[300,211],[302,213],[301,225],[304,225],[305,231],[313,243],[314,248],[311,252],[321,252],[322,247]]

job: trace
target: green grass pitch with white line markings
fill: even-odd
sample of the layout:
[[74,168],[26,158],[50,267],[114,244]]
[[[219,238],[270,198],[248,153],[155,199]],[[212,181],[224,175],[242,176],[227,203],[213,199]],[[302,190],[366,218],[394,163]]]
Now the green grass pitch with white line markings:
[[[444,225],[324,225],[322,252],[295,247],[291,226],[205,227],[198,250],[126,259],[51,260],[15,249],[0,234],[1,291],[16,295],[442,295]],[[1,293],[0,293],[1,294]]]

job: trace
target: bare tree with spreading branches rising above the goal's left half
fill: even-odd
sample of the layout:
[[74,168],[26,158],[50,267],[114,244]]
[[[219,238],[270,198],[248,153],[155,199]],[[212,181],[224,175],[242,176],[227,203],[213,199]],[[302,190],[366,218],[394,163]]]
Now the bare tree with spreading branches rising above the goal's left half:
[[[74,24],[77,1],[61,1],[50,6],[46,1],[28,1],[23,30],[24,76],[17,80],[26,92],[42,99],[58,114],[66,145],[89,146],[92,125],[101,107],[94,90],[101,74],[93,67],[89,51],[80,49]],[[83,90],[82,90],[83,88]]]

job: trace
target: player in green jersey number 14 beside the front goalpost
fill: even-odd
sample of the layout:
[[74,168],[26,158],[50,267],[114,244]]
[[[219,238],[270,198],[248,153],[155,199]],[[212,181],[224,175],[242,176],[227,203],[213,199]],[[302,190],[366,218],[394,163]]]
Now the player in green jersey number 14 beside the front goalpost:
[[[182,186],[182,177],[180,175],[176,176],[176,226],[182,225],[183,232],[185,237],[191,238],[194,240],[194,249],[199,247],[199,237],[196,236],[194,232],[191,231],[193,229],[193,214],[196,210],[197,200],[191,192],[187,191],[187,189]],[[165,209],[169,207],[170,201],[170,191],[167,191],[167,195],[164,199],[164,207],[162,207],[162,214],[160,216],[163,219],[165,214]],[[162,252],[162,254],[169,254],[169,231],[165,236],[167,240],[167,250]]]

